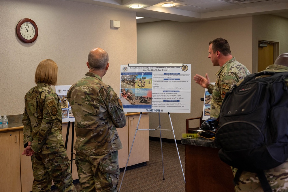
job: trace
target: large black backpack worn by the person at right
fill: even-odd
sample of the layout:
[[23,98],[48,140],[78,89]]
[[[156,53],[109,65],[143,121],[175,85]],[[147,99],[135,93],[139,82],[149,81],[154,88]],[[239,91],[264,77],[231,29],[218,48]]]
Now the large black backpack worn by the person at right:
[[[260,75],[262,78],[255,78]],[[226,93],[215,145],[219,158],[241,172],[257,173],[264,191],[272,191],[263,170],[288,158],[288,72],[250,74]]]

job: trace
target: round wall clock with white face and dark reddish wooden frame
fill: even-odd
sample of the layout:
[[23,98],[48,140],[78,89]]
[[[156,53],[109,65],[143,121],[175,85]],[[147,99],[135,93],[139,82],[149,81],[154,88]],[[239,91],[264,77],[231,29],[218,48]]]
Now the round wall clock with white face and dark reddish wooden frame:
[[37,39],[38,28],[36,23],[28,18],[21,19],[16,26],[18,38],[25,43],[32,43]]

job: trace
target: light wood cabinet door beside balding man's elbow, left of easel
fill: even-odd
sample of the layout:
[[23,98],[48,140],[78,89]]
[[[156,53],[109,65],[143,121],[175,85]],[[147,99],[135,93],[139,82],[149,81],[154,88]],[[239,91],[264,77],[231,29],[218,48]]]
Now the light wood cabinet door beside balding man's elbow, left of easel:
[[[126,118],[126,126],[122,128],[116,128],[118,136],[122,143],[123,148],[118,150],[119,167],[125,167],[129,155],[129,143],[128,143],[128,118]],[[129,163],[127,164],[129,166]]]

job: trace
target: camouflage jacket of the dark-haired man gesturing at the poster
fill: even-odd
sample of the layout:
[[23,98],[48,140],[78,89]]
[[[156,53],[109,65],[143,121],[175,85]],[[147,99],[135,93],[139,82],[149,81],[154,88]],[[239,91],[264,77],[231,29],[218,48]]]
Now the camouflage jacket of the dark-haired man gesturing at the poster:
[[233,85],[250,74],[249,70],[235,60],[235,57],[227,61],[216,73],[215,85],[208,86],[208,92],[212,94],[210,117],[218,118],[220,108],[226,92],[231,90]]

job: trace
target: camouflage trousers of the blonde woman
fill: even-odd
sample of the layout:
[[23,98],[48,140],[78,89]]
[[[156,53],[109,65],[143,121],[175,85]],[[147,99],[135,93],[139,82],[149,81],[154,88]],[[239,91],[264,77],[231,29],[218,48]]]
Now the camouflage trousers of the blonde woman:
[[35,153],[31,156],[34,192],[50,192],[52,180],[59,192],[77,192],[72,184],[69,158],[66,152],[56,154]]

